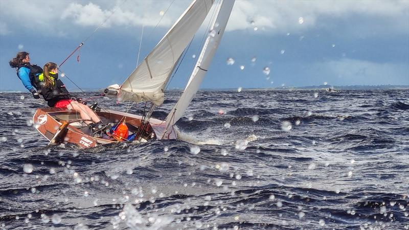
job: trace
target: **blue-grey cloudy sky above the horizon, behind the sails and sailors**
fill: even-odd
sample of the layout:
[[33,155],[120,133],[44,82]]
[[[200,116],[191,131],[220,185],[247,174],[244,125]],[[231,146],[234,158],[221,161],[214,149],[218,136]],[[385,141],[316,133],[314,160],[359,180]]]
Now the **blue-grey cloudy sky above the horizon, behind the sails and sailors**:
[[[137,65],[142,26],[140,61],[190,1],[171,3],[0,1],[0,90],[25,90],[8,64],[18,51],[29,52],[33,64],[59,64],[113,11],[86,40],[80,62],[76,53],[62,70],[82,88],[121,84]],[[207,25],[196,34],[170,88],[185,86]],[[409,1],[236,1],[202,88],[324,82],[409,85]]]

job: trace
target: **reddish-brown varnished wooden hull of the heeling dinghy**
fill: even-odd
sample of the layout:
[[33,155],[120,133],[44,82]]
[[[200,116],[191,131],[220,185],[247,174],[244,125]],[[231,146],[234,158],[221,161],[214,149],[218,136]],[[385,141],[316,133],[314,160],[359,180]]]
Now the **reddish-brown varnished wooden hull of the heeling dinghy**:
[[[130,125],[130,131],[137,129],[143,119],[142,116],[136,114],[114,110],[104,109],[96,113],[104,123],[118,123],[125,120]],[[84,125],[83,121],[80,114],[76,111],[55,107],[38,108],[33,116],[33,126],[50,141],[49,145],[72,143],[81,148],[92,148],[119,142],[117,140],[107,140],[92,136],[89,132],[84,131],[87,129],[87,126]],[[150,118],[149,124],[142,134],[142,142],[150,139],[177,138],[173,128],[166,138],[162,138],[165,129],[166,123],[164,121]]]

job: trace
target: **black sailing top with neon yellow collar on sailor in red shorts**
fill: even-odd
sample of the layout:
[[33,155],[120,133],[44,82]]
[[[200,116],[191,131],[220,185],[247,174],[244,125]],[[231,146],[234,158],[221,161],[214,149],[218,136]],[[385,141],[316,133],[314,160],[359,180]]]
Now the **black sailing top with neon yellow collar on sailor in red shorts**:
[[41,95],[44,100],[47,101],[48,106],[53,107],[55,103],[63,99],[71,99],[70,92],[65,88],[64,83],[58,79],[58,73],[54,74],[49,72],[51,80],[53,80],[53,85],[51,87],[46,87],[43,84],[44,75],[40,74],[38,79],[41,81]]

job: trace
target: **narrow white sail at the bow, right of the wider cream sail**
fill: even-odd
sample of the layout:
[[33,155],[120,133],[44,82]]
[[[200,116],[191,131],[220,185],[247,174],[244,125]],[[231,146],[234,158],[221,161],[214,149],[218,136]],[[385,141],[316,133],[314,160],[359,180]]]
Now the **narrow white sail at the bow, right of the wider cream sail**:
[[[166,118],[166,124],[169,125],[169,129],[172,129],[174,123],[176,123],[185,113],[188,105],[195,96],[199,86],[205,77],[205,74],[212,62],[213,56],[216,53],[219,46],[221,37],[223,36],[224,29],[229,21],[230,13],[232,12],[234,0],[223,0],[218,8],[218,14],[215,20],[212,22],[212,26],[205,44],[196,62],[192,75],[189,78],[189,82],[186,85],[185,91],[180,96],[179,101],[173,107],[172,111]],[[166,134],[166,133],[165,133]],[[166,136],[166,135],[165,135]],[[165,137],[164,137],[165,138]]]

